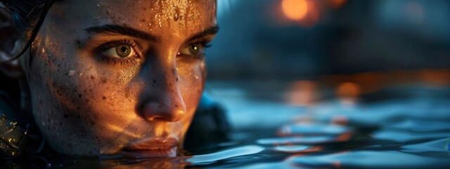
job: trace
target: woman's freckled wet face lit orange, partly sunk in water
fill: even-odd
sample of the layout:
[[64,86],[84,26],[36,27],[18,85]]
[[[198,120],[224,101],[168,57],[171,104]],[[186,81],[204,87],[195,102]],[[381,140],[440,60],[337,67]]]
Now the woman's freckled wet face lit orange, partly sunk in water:
[[215,13],[214,0],[55,2],[23,60],[53,149],[175,156],[203,91]]

